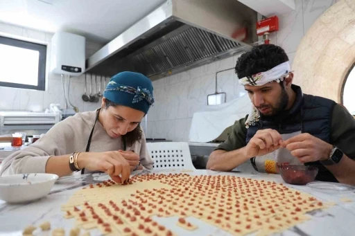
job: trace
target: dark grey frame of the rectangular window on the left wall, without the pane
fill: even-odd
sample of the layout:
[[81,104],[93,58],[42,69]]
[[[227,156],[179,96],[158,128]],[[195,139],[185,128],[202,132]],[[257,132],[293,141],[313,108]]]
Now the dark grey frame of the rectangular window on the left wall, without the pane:
[[17,84],[10,82],[2,82],[0,80],[0,87],[10,87],[17,89],[34,89],[39,91],[45,91],[46,88],[46,51],[47,45],[45,44],[36,44],[33,42],[27,42],[19,39],[12,39],[10,37],[3,37],[0,35],[0,44],[15,46],[17,48],[25,48],[40,53],[39,62],[38,62],[38,78],[37,86],[29,84]]

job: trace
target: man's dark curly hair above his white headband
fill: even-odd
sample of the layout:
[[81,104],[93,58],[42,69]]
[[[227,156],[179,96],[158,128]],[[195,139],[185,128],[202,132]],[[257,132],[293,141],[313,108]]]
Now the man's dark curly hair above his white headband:
[[241,55],[236,61],[235,70],[238,78],[241,79],[245,76],[268,71],[287,61],[288,56],[281,47],[273,44],[261,44]]

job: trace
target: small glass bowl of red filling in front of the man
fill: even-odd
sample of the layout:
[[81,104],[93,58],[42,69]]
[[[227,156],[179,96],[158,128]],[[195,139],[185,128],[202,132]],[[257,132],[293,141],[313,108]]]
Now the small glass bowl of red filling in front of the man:
[[314,181],[318,168],[306,165],[278,165],[279,173],[286,183],[306,185]]

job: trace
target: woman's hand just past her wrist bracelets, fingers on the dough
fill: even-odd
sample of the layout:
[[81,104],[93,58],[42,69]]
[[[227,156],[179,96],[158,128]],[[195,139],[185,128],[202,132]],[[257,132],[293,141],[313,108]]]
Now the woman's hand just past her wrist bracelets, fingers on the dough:
[[106,172],[117,183],[124,183],[130,177],[130,163],[119,151],[82,152],[78,165],[80,169]]

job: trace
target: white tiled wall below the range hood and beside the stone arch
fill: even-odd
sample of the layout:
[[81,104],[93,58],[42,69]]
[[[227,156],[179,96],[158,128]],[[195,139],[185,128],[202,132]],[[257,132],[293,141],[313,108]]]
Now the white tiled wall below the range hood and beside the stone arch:
[[[336,0],[295,0],[295,11],[278,16],[280,29],[270,35],[271,43],[284,48],[291,64],[306,31],[335,2]],[[207,105],[207,95],[215,91],[216,71],[234,67],[238,56],[153,82],[156,102],[148,112],[146,136],[188,141],[193,113]],[[218,73],[218,91],[227,93],[227,101],[245,94],[233,70]]]

